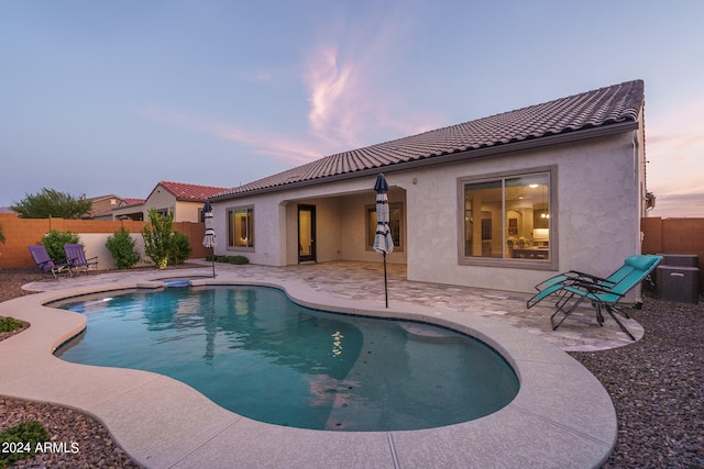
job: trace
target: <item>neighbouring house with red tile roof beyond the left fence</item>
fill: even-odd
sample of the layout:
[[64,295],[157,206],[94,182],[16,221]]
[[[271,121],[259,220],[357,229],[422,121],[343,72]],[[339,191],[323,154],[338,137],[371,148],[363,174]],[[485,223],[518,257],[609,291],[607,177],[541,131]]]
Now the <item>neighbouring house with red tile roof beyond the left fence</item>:
[[[156,210],[162,215],[174,214],[175,222],[202,222],[202,206],[209,197],[226,188],[160,181],[145,200],[125,199],[125,203],[112,211],[116,220],[129,217],[147,220],[147,212]],[[129,202],[129,203],[128,203]]]

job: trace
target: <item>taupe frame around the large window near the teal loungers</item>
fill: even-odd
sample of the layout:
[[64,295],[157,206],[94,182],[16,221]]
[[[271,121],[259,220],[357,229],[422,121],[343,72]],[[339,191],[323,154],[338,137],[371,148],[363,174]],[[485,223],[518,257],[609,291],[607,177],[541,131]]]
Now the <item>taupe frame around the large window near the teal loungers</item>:
[[[550,256],[548,259],[514,259],[505,258],[505,250],[501,258],[465,256],[465,186],[479,182],[496,182],[502,183],[502,190],[505,188],[505,179],[516,177],[528,177],[539,174],[548,175],[549,193],[548,206],[550,206]],[[482,267],[503,267],[513,269],[531,269],[531,270],[558,270],[559,268],[559,204],[558,204],[558,166],[540,166],[531,168],[522,168],[510,171],[492,172],[485,175],[461,176],[457,179],[458,187],[458,265],[461,266],[482,266]],[[502,192],[502,246],[506,249],[507,221],[506,221],[506,200]]]

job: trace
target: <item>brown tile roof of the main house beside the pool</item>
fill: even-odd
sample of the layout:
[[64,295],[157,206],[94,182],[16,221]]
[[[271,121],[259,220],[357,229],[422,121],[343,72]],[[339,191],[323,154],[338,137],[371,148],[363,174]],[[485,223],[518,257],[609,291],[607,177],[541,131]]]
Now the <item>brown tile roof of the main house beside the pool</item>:
[[[453,157],[482,156],[508,150],[508,148],[494,149],[505,145],[548,144],[549,142],[543,143],[541,139],[565,134],[570,134],[571,138],[575,136],[575,132],[586,130],[604,130],[605,134],[623,132],[637,127],[644,100],[642,80],[614,85],[543,104],[330,155],[229,189],[217,197],[211,197],[211,200],[348,179],[376,172],[381,168],[391,171],[440,163],[440,159],[444,161]],[[552,142],[554,139],[550,139],[550,143]]]

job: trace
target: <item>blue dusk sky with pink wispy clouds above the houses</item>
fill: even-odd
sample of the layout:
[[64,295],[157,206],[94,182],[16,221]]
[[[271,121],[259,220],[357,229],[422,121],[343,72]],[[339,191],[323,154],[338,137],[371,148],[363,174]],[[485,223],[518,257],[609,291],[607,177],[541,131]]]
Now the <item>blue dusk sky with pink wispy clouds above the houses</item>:
[[146,198],[623,81],[654,216],[704,217],[704,2],[0,0],[0,206]]

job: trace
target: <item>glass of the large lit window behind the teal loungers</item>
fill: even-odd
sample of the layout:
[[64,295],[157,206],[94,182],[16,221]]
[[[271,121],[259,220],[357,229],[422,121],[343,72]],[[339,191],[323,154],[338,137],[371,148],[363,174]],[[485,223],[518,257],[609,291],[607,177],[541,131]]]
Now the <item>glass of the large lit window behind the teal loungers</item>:
[[464,258],[551,260],[550,172],[462,181]]

